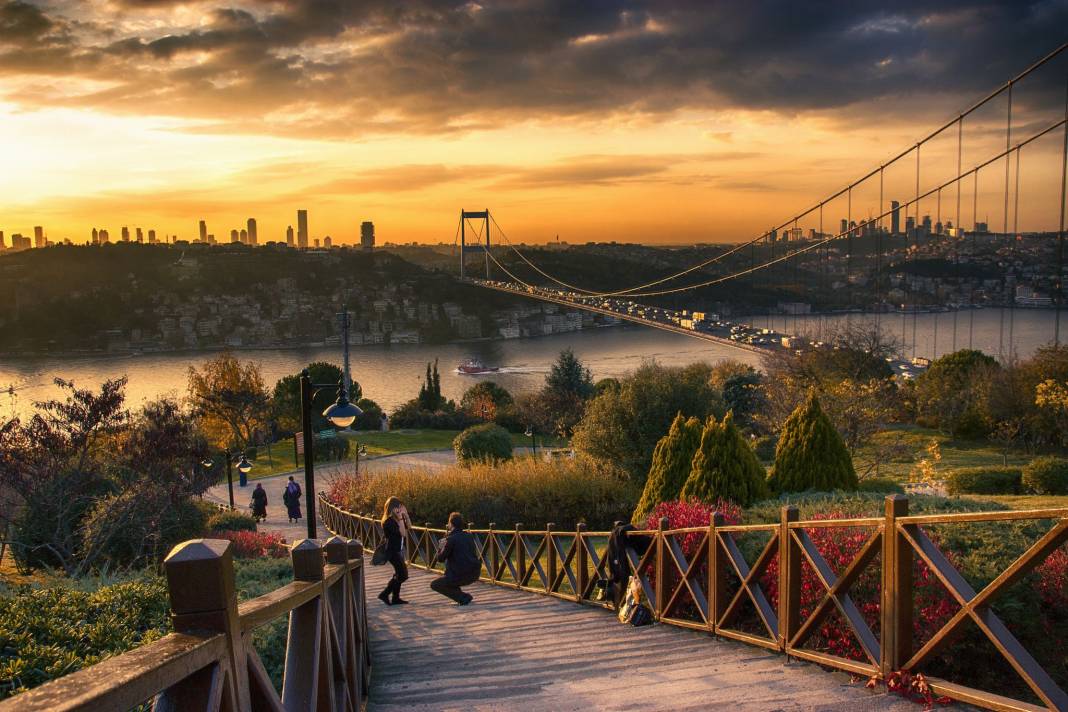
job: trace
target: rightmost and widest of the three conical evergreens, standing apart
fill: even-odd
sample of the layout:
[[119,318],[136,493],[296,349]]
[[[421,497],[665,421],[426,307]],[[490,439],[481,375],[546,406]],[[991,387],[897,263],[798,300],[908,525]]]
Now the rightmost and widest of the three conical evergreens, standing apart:
[[852,458],[815,392],[786,418],[768,484],[775,492],[857,489]]

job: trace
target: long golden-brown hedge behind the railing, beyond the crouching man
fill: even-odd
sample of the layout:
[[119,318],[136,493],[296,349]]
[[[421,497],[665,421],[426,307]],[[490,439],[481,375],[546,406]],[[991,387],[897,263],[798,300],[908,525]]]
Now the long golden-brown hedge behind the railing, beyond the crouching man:
[[327,496],[349,511],[378,517],[391,495],[405,502],[414,522],[441,526],[451,511],[459,511],[480,526],[522,522],[535,529],[547,522],[607,529],[629,518],[638,501],[637,488],[618,470],[583,457],[345,475],[331,481]]

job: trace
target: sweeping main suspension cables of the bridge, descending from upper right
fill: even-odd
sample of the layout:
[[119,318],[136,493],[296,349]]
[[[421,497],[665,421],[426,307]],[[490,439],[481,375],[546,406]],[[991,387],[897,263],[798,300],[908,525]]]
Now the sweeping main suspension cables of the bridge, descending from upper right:
[[[757,236],[757,237],[755,237],[755,238],[753,238],[751,240],[738,243],[738,244],[734,246],[733,248],[729,248],[729,249],[725,250],[724,252],[721,252],[721,253],[719,253],[719,254],[717,254],[717,255],[714,255],[712,257],[709,257],[708,259],[705,259],[705,260],[702,260],[702,262],[696,263],[694,265],[691,265],[690,267],[687,267],[686,269],[679,270],[678,272],[675,272],[673,274],[669,274],[666,276],[659,278],[657,280],[653,280],[650,282],[646,282],[644,284],[635,285],[635,286],[632,286],[632,287],[627,287],[625,289],[617,289],[617,290],[611,290],[611,291],[598,291],[598,290],[588,289],[588,288],[580,287],[578,285],[568,283],[568,282],[566,282],[564,280],[561,280],[560,278],[556,278],[556,276],[550,274],[549,272],[545,271],[544,269],[541,269],[540,267],[538,267],[536,264],[534,264],[534,262],[532,262],[530,258],[528,258],[522,253],[522,251],[520,251],[512,242],[512,240],[508,238],[507,234],[501,228],[500,224],[497,222],[497,220],[494,218],[492,218],[492,216],[490,216],[490,219],[492,220],[493,224],[497,226],[498,232],[500,233],[501,237],[504,239],[505,243],[531,269],[533,269],[535,272],[537,272],[538,274],[540,274],[545,279],[547,279],[547,280],[549,280],[549,281],[551,281],[551,282],[553,282],[553,283],[555,283],[555,284],[557,284],[557,285],[560,285],[562,287],[566,287],[567,289],[570,289],[570,290],[576,291],[576,292],[581,292],[581,294],[583,294],[585,296],[591,296],[591,297],[654,297],[654,296],[662,296],[662,295],[669,295],[669,294],[677,294],[677,292],[680,292],[680,291],[687,291],[687,290],[695,289],[695,288],[703,287],[703,286],[709,286],[709,285],[712,285],[712,284],[719,284],[719,283],[725,282],[727,280],[737,279],[738,276],[743,276],[745,274],[750,274],[753,271],[756,271],[758,269],[764,269],[766,267],[770,267],[772,265],[776,265],[776,264],[779,264],[781,262],[784,262],[785,259],[789,259],[789,258],[791,258],[791,257],[794,257],[794,256],[796,256],[798,254],[804,254],[804,253],[811,251],[812,249],[814,249],[816,247],[820,247],[820,246],[827,244],[828,242],[831,242],[831,241],[833,241],[835,239],[838,239],[838,238],[843,237],[843,235],[847,235],[851,239],[853,231],[852,230],[847,230],[845,233],[838,233],[836,235],[832,235],[829,238],[826,238],[823,240],[820,240],[818,242],[810,244],[810,246],[807,246],[805,248],[802,248],[802,249],[799,249],[799,250],[795,250],[794,252],[790,252],[790,253],[788,253],[788,254],[786,254],[786,255],[784,255],[782,257],[774,258],[774,259],[768,260],[766,263],[763,263],[761,265],[758,265],[758,266],[756,266],[753,269],[743,270],[743,271],[736,272],[734,274],[729,274],[729,275],[726,275],[726,276],[723,276],[723,278],[717,278],[717,279],[713,279],[713,280],[708,280],[708,281],[705,281],[705,282],[700,282],[700,283],[696,283],[696,284],[691,284],[691,285],[688,285],[688,286],[685,286],[685,287],[677,287],[677,288],[671,288],[671,289],[646,291],[649,287],[655,287],[655,286],[659,286],[661,284],[665,284],[668,282],[672,282],[672,281],[677,280],[677,279],[679,279],[681,276],[685,276],[685,275],[693,273],[693,272],[695,272],[697,270],[701,270],[701,269],[704,269],[706,267],[709,267],[709,266],[711,266],[711,265],[713,265],[716,263],[719,263],[719,262],[721,262],[721,260],[723,260],[723,259],[725,259],[725,258],[727,258],[727,257],[729,257],[729,256],[732,256],[734,254],[737,254],[738,252],[740,252],[741,250],[743,250],[743,249],[745,249],[748,247],[755,246],[756,243],[760,242],[761,240],[768,239],[773,232],[778,232],[778,231],[781,231],[781,230],[783,230],[783,228],[785,228],[785,227],[787,227],[787,226],[789,226],[791,224],[796,224],[799,220],[802,220],[802,219],[806,218],[807,216],[816,212],[817,210],[820,212],[820,218],[822,219],[822,209],[823,209],[824,205],[827,205],[828,203],[830,203],[830,202],[832,202],[832,201],[841,197],[842,195],[848,195],[848,196],[851,197],[851,193],[852,193],[853,188],[855,188],[855,187],[864,184],[866,180],[875,177],[876,175],[880,175],[881,176],[881,174],[883,173],[883,171],[886,168],[889,168],[889,167],[897,163],[898,161],[900,161],[901,159],[906,158],[907,156],[909,156],[913,152],[916,152],[916,160],[917,160],[917,163],[918,163],[918,160],[920,160],[920,149],[921,149],[921,147],[924,144],[926,144],[927,142],[936,139],[943,131],[945,131],[946,129],[953,127],[954,125],[958,126],[958,132],[959,132],[961,130],[960,127],[963,126],[963,121],[964,121],[964,118],[967,116],[969,116],[970,114],[972,114],[975,111],[979,110],[980,108],[983,108],[984,106],[986,106],[987,104],[989,104],[990,101],[992,101],[993,99],[995,99],[999,96],[1001,96],[1003,93],[1008,92],[1009,100],[1011,101],[1011,92],[1012,92],[1014,84],[1016,84],[1017,82],[1019,82],[1023,78],[1027,77],[1028,75],[1031,75],[1032,73],[1034,73],[1035,70],[1037,70],[1039,67],[1041,67],[1045,64],[1047,64],[1050,61],[1052,61],[1054,58],[1056,58],[1057,56],[1059,56],[1066,49],[1068,49],[1068,43],[1063,43],[1062,45],[1059,45],[1058,47],[1056,47],[1055,49],[1053,49],[1051,52],[1049,52],[1048,54],[1046,54],[1041,59],[1039,59],[1036,62],[1034,62],[1026,69],[1024,69],[1023,72],[1021,72],[1017,76],[1012,77],[1011,79],[1009,79],[1008,81],[1006,81],[1004,84],[1002,84],[998,89],[995,89],[992,92],[990,92],[987,96],[985,96],[984,98],[979,99],[978,101],[975,101],[968,109],[959,112],[957,114],[957,116],[955,116],[954,118],[945,122],[940,127],[938,127],[933,131],[929,132],[927,136],[925,136],[923,139],[921,139],[920,141],[917,141],[915,144],[910,145],[908,148],[899,152],[897,155],[895,155],[890,160],[881,163],[878,168],[875,168],[875,169],[868,171],[866,174],[864,174],[860,178],[858,178],[858,179],[853,180],[852,183],[848,184],[847,186],[845,186],[841,190],[838,190],[838,191],[836,191],[836,192],[828,195],[823,200],[819,201],[817,204],[808,207],[806,210],[803,210],[803,211],[801,211],[801,212],[799,212],[799,213],[797,213],[797,215],[795,215],[795,216],[792,216],[792,217],[784,220],[782,223],[780,223],[775,227],[772,227],[771,230],[766,231],[765,233],[760,234],[759,236]],[[1009,104],[1009,114],[1011,115],[1011,102]],[[1041,137],[1041,136],[1045,136],[1049,131],[1056,129],[1058,126],[1061,126],[1063,124],[1064,124],[1064,121],[1058,122],[1053,127],[1051,127],[1049,129],[1046,129],[1045,131],[1041,131],[1041,132],[1037,133],[1036,136],[1032,137],[1025,143],[1030,143],[1034,139],[1037,139],[1037,138]],[[1019,148],[1020,145],[1023,145],[1023,144],[1018,144],[1017,148]],[[1003,152],[1002,154],[999,154],[994,158],[992,158],[992,159],[984,162],[983,164],[976,167],[975,169],[972,169],[968,173],[961,174],[960,171],[959,171],[959,169],[958,169],[958,175],[956,176],[956,178],[946,181],[942,186],[939,186],[938,189],[936,189],[936,190],[941,190],[944,187],[951,186],[954,183],[959,181],[961,178],[963,178],[964,176],[970,175],[972,173],[976,173],[977,174],[977,171],[978,171],[979,168],[983,168],[984,165],[988,165],[992,161],[995,161],[995,160],[999,160],[1000,158],[1004,158],[1004,157],[1008,156],[1011,153],[1011,151],[1012,151],[1012,148],[1009,147],[1009,146],[1007,146],[1005,152]],[[923,195],[920,195],[918,194],[920,193],[918,178],[920,178],[920,176],[918,176],[918,167],[917,167],[917,175],[916,175],[916,193],[917,193],[917,197],[916,197],[915,201],[910,201],[905,206],[900,206],[900,207],[908,207],[908,206],[912,206],[912,205],[917,205],[918,202],[920,202],[920,200],[922,200],[923,197],[928,197],[933,192],[936,192],[934,190],[932,190],[932,191],[928,191],[928,192],[924,193]],[[879,207],[880,207],[880,209],[882,209],[881,203],[880,203]],[[891,215],[892,212],[893,212],[893,210],[886,210],[886,211],[882,212],[877,219],[878,220],[882,220],[882,218]],[[918,217],[918,207],[917,207],[917,217]],[[820,220],[820,222],[822,223],[822,220]],[[848,226],[849,225],[847,224],[847,228],[848,228]],[[822,235],[822,225],[820,225],[820,234]],[[494,262],[497,262],[497,260],[494,260]],[[498,264],[500,264],[500,263],[498,263]]]

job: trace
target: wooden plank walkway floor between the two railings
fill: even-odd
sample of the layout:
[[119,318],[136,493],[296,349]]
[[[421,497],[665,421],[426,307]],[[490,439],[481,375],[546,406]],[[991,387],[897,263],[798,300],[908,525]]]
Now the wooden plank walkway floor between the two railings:
[[371,711],[918,709],[845,674],[535,594],[475,584],[455,606],[410,572],[411,605],[387,607],[375,596],[392,569],[368,567]]

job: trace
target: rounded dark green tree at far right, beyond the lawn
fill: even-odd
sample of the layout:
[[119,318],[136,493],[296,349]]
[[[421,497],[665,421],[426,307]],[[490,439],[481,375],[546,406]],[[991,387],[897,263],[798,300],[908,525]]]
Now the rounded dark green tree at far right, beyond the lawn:
[[974,349],[936,360],[915,381],[915,408],[921,423],[959,438],[985,437],[993,426],[991,384],[1000,366]]

